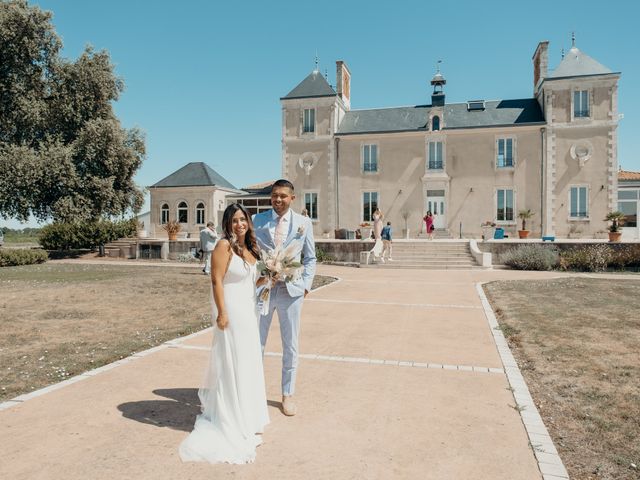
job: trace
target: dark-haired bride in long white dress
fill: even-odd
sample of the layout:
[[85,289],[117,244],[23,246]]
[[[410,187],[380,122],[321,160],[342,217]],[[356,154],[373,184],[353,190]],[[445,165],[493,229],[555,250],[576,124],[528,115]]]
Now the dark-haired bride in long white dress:
[[212,256],[213,348],[204,387],[202,414],[180,445],[183,461],[250,463],[260,433],[269,423],[258,333],[256,262],[258,246],[251,218],[232,204],[222,219],[224,237]]

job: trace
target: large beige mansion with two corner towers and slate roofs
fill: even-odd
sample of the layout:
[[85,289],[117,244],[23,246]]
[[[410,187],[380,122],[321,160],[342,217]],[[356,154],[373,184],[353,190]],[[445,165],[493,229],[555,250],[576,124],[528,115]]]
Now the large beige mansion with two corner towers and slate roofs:
[[351,72],[336,88],[316,70],[281,98],[282,175],[316,235],[355,230],[379,207],[396,232],[424,230],[426,211],[453,237],[496,223],[517,235],[606,237],[617,208],[620,74],[575,45],[553,70],[533,55],[533,95],[448,103],[437,72],[426,105],[351,110]]

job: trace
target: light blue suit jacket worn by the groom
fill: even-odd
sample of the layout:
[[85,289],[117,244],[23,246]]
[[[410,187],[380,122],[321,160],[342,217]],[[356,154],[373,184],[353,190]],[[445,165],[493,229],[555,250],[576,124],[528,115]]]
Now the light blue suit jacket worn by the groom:
[[[273,219],[273,210],[257,213],[253,216],[253,228],[256,231],[256,238],[261,249],[273,250],[276,248],[271,230],[275,231],[276,221]],[[300,251],[297,254],[300,260],[301,254],[303,272],[302,276],[293,282],[287,282],[287,291],[292,297],[304,295],[304,291],[311,291],[313,276],[316,273],[316,244],[313,240],[313,224],[309,217],[304,217],[291,211],[291,223],[289,233],[283,243],[286,247],[291,242],[300,244]]]

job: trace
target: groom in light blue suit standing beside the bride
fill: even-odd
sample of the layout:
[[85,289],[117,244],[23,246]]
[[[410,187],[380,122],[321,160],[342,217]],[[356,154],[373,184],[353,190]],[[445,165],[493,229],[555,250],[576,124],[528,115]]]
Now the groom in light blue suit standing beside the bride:
[[304,256],[302,276],[293,282],[276,282],[271,289],[269,312],[260,317],[260,343],[264,353],[273,312],[278,312],[280,336],[282,337],[282,411],[288,416],[296,414],[293,394],[298,367],[298,338],[302,301],[311,290],[311,283],[316,271],[313,225],[308,217],[294,213],[289,208],[295,198],[293,184],[288,180],[277,180],[271,187],[271,206],[273,209],[258,213],[253,218],[253,226],[260,248],[273,250],[278,246],[286,247],[292,241],[296,241],[301,243],[300,253]]

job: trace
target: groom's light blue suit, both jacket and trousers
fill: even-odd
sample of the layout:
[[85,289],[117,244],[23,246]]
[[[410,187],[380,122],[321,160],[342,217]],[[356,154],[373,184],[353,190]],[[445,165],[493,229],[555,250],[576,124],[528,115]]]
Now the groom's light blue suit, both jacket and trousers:
[[[294,282],[276,282],[271,289],[269,312],[260,317],[260,343],[264,352],[273,312],[278,312],[280,337],[282,338],[283,395],[293,395],[295,392],[302,301],[304,300],[304,291],[311,291],[313,276],[316,272],[316,247],[313,240],[311,220],[293,211],[290,211],[290,213],[289,232],[283,247],[286,247],[291,242],[300,243],[300,253],[304,255],[302,260],[304,270],[302,276]],[[275,248],[273,233],[276,227],[273,210],[254,215],[253,226],[260,248],[273,250]],[[298,260],[300,259],[300,253],[298,254]]]

